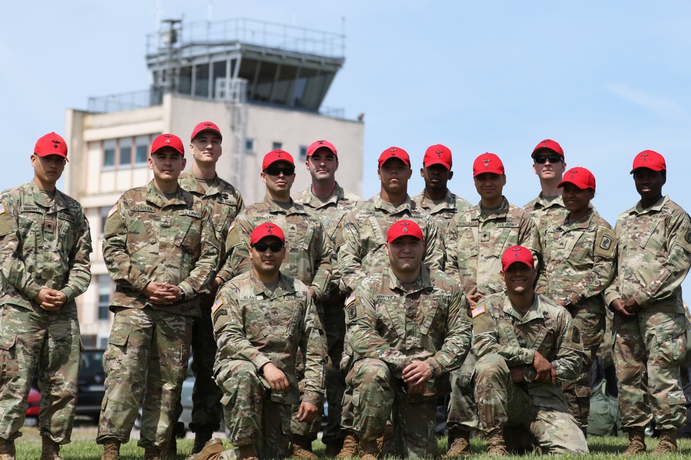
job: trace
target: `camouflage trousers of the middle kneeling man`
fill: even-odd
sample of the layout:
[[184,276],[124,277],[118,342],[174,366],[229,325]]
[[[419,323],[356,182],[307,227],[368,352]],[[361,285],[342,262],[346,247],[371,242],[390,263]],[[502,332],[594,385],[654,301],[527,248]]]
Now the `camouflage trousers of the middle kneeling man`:
[[353,363],[345,377],[352,407],[353,429],[361,440],[372,441],[386,430],[386,421],[392,416],[394,439],[392,452],[403,458],[436,457],[437,439],[435,415],[437,396],[408,397],[406,384],[393,377],[389,367],[379,359],[359,359]]

